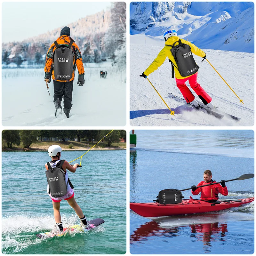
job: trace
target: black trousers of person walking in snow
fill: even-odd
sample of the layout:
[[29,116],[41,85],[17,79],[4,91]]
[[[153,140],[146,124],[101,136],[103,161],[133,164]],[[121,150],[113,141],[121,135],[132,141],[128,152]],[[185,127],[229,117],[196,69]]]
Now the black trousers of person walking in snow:
[[73,92],[73,82],[59,82],[53,80],[53,88],[54,88],[54,95],[53,95],[53,102],[56,100],[62,100],[62,96],[64,99],[64,108],[71,108],[72,107],[72,92]]

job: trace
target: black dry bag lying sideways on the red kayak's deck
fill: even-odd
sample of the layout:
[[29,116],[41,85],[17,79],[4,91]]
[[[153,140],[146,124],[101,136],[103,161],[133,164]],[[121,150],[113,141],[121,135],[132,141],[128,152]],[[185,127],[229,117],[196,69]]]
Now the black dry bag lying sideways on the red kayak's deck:
[[161,190],[156,198],[158,198],[159,204],[178,204],[181,203],[184,196],[182,196],[180,190],[169,188]]

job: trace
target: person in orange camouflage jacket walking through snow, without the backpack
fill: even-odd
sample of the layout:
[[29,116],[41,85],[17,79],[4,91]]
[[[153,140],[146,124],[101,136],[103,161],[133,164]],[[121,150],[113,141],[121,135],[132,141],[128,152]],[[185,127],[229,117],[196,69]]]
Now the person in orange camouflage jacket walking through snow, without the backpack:
[[[67,118],[69,118],[69,113],[73,105],[71,102],[72,102],[73,82],[75,79],[76,67],[79,74],[77,84],[79,84],[78,86],[84,85],[84,65],[83,65],[82,55],[79,50],[79,47],[75,44],[75,41],[70,37],[70,28],[68,27],[62,28],[60,31],[60,37],[56,40],[56,42],[58,45],[65,45],[66,47],[67,45],[69,46],[69,44],[71,44],[71,40],[73,41],[73,43],[70,47],[74,55],[73,64],[71,62],[71,65],[72,65],[71,69],[73,68],[73,72],[71,70],[72,74],[69,76],[66,75],[68,79],[65,78],[65,74],[63,76],[58,75],[57,77],[54,74],[54,68],[57,68],[57,66],[60,65],[57,61],[56,63],[53,63],[54,52],[57,49],[55,42],[50,46],[46,54],[46,61],[45,61],[45,67],[44,67],[44,72],[45,72],[44,81],[46,83],[49,82],[49,79],[51,81],[50,76],[52,73],[52,80],[53,80],[53,87],[54,87],[53,102],[55,105],[56,117],[58,117],[58,115],[61,113],[61,109],[62,109],[61,100],[63,96],[63,99],[64,99],[63,112],[65,113]],[[62,77],[64,79],[62,79]]]

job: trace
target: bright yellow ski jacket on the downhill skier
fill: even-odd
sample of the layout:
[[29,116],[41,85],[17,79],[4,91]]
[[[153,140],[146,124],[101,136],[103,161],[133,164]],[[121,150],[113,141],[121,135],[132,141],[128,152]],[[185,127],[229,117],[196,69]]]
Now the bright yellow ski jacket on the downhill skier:
[[[144,71],[144,74],[146,76],[153,73],[158,67],[160,67],[164,63],[164,60],[166,59],[166,57],[168,57],[172,61],[172,63],[177,67],[177,63],[174,60],[174,57],[172,56],[172,52],[171,52],[172,46],[167,46],[167,44],[173,45],[175,42],[178,42],[179,39],[180,39],[179,36],[171,36],[167,39],[167,41],[165,42],[164,48],[161,50],[161,52],[158,53],[156,59]],[[191,52],[196,54],[197,56],[204,58],[204,56],[206,55],[202,50],[196,47],[195,44],[192,44],[184,39],[180,39],[180,40],[181,40],[181,43],[188,44],[191,47]],[[170,63],[170,66],[171,66],[171,63]],[[174,73],[177,79],[184,79],[186,77],[189,77],[189,76],[181,76],[179,70],[175,67],[174,67]],[[193,75],[190,75],[190,76],[193,76]]]

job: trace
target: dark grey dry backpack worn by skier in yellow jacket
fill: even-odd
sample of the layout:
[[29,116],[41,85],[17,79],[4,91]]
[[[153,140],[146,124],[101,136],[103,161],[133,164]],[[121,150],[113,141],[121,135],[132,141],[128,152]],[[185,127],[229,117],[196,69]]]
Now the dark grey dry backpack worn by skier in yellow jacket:
[[[179,43],[179,44],[175,46],[176,43]],[[199,67],[196,65],[196,61],[194,60],[194,57],[190,50],[191,47],[188,44],[182,44],[181,40],[179,40],[175,42],[173,45],[168,45],[168,46],[172,46],[172,49],[171,49],[172,56],[174,57],[174,60],[176,61],[178,66],[176,67],[172,63],[172,78],[174,78],[173,65],[175,66],[175,68],[178,69],[181,76],[194,75],[198,71]],[[169,61],[172,62],[171,60]]]

